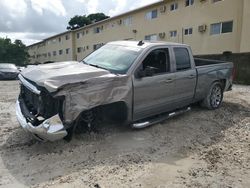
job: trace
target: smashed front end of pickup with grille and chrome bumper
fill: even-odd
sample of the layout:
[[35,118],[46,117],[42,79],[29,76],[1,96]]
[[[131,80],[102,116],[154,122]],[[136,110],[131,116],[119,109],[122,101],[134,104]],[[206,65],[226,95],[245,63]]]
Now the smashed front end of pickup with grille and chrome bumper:
[[62,101],[22,75],[18,77],[21,91],[16,102],[16,115],[20,125],[40,141],[55,141],[67,136],[59,112]]

